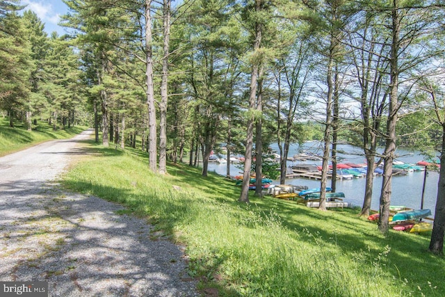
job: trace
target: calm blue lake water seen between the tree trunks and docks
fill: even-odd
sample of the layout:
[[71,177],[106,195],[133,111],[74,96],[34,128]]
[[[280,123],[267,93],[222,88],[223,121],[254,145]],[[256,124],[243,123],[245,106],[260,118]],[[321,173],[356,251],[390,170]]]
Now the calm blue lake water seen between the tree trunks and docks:
[[[276,145],[271,146],[276,150]],[[302,147],[304,151],[311,151],[314,153],[320,153],[319,145],[316,143],[305,143]],[[357,147],[352,147],[350,145],[339,145],[339,156],[344,159],[339,161],[339,163],[364,163],[364,156],[362,156],[360,150]],[[289,152],[289,156],[299,152],[299,147],[293,145]],[[407,150],[398,150],[396,152],[398,157],[396,160],[403,161],[405,163],[416,163],[423,160],[423,156],[418,152],[409,152]],[[292,166],[297,163],[315,163],[317,165],[321,164],[321,161],[305,161],[305,162],[291,162],[288,161],[288,166]],[[209,163],[209,172],[216,172],[220,175],[226,175],[226,164],[220,164],[211,162]],[[233,164],[230,166],[230,175],[239,175],[242,169],[237,168]],[[408,172],[407,175],[394,176],[392,179],[392,194],[391,194],[391,205],[403,205],[405,207],[410,207],[412,209],[420,209],[421,207],[421,197],[422,197],[422,187],[423,187],[423,171]],[[439,172],[428,171],[425,195],[423,200],[423,208],[431,209],[431,213],[434,216],[436,198],[437,198],[437,184],[439,182]],[[279,181],[274,181],[273,184],[279,184]],[[286,184],[303,185],[309,188],[320,187],[320,181],[314,179],[286,179]],[[327,183],[330,186],[330,180]],[[373,182],[373,198],[371,201],[371,208],[378,210],[380,191],[382,188],[382,176],[376,176]],[[346,195],[344,200],[350,201],[354,206],[362,207],[365,189],[365,179],[355,178],[346,180],[337,180],[337,192],[343,192]]]

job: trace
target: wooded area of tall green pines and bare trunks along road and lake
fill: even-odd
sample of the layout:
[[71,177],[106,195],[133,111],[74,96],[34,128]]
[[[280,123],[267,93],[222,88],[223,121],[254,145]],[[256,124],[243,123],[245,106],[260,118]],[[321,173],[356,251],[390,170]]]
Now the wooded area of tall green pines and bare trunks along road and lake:
[[[63,2],[63,36],[47,36],[19,1],[0,2],[0,111],[11,127],[89,124],[103,145],[146,150],[160,174],[167,159],[189,152],[193,165],[200,152],[207,176],[223,144],[227,158],[245,156],[239,200],[248,202],[263,147],[279,144],[284,184],[289,145],[321,125],[323,174],[328,162],[336,172],[339,139],[363,147],[368,164],[385,162],[383,233],[396,147],[416,147],[442,165],[430,250],[443,252],[443,1]],[[373,175],[366,179],[364,216]],[[320,209],[325,186],[324,178]]]

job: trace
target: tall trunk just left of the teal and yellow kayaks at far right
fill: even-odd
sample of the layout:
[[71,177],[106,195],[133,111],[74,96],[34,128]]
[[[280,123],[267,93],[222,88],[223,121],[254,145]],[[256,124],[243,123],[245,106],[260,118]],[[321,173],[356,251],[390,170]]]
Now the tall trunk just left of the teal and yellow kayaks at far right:
[[396,122],[397,122],[397,99],[398,99],[398,49],[400,47],[400,17],[398,12],[398,0],[393,0],[392,10],[392,41],[390,60],[390,91],[389,111],[387,120],[387,135],[385,143],[383,164],[382,192],[380,193],[380,217],[379,230],[387,234],[389,228],[389,206],[391,204],[392,162],[396,152]]

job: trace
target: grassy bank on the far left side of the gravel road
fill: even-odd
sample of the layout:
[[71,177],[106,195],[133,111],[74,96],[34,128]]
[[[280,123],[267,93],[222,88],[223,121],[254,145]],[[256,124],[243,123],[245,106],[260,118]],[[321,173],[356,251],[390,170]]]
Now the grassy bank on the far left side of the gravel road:
[[33,126],[33,131],[26,131],[26,128],[19,123],[15,123],[14,128],[9,127],[9,119],[0,117],[0,156],[51,139],[71,138],[85,129],[86,127],[71,127],[54,131],[47,123],[38,122],[37,126]]

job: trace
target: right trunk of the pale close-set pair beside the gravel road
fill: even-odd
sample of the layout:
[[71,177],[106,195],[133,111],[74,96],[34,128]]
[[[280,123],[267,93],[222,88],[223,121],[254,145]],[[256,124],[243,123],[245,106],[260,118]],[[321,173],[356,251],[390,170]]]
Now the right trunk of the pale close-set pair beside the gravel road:
[[168,57],[170,54],[170,3],[163,1],[163,58],[161,79],[161,104],[159,104],[159,173],[167,173],[167,102],[168,102]]

